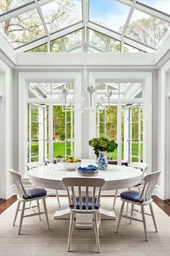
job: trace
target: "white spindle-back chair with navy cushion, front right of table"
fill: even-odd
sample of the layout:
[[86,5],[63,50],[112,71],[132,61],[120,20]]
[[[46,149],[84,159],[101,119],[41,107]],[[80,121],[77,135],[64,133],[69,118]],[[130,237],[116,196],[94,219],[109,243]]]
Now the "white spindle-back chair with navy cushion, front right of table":
[[[148,241],[148,231],[146,229],[145,214],[147,214],[148,216],[152,216],[153,224],[155,226],[156,232],[158,232],[158,229],[157,229],[157,226],[156,226],[156,220],[155,220],[155,216],[154,216],[153,208],[152,208],[153,199],[152,199],[151,196],[152,196],[153,189],[156,185],[156,182],[157,182],[158,177],[160,176],[160,174],[161,174],[161,171],[156,171],[156,172],[153,172],[151,174],[147,174],[146,176],[144,176],[144,178],[143,178],[144,186],[143,186],[142,192],[140,194],[137,191],[127,191],[127,192],[123,192],[123,193],[120,194],[120,197],[121,197],[121,200],[122,200],[122,207],[120,209],[120,217],[119,217],[119,221],[118,221],[118,224],[117,224],[117,232],[118,232],[118,229],[119,229],[119,226],[120,226],[120,221],[121,221],[122,217],[130,219],[130,223],[131,223],[131,221],[140,221],[140,222],[143,222],[146,241]],[[138,193],[138,195],[137,195],[138,199],[136,199],[134,197],[133,192],[135,192],[135,195],[137,195],[136,193]],[[130,194],[131,194],[131,196],[130,196]],[[130,202],[132,204],[131,215],[130,216],[122,215],[125,202]],[[133,211],[135,210],[134,205],[139,205],[141,207],[142,220],[133,217]],[[144,207],[146,205],[149,205],[150,210],[151,210],[151,214],[145,213]],[[138,211],[138,210],[135,210],[135,211]]]

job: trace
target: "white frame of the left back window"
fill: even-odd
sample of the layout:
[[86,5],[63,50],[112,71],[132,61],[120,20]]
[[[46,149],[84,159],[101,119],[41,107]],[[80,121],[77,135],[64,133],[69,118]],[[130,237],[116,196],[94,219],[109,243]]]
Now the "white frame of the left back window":
[[[66,79],[67,77],[67,79]],[[27,103],[47,103],[46,98],[28,98],[29,82],[67,82],[73,81],[75,86],[74,106],[81,108],[81,72],[19,72],[19,172],[27,176]],[[56,102],[49,98],[48,103]],[[69,101],[68,101],[69,103]],[[81,111],[75,111],[74,116],[74,155],[81,158]],[[24,150],[23,150],[24,149]]]

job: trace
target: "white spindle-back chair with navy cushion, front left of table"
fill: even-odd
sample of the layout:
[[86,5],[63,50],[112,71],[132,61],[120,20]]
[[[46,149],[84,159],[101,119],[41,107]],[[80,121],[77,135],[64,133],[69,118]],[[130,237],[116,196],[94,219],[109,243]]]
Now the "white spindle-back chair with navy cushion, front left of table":
[[[16,213],[15,213],[15,216],[14,216],[13,226],[15,225],[15,221],[17,219],[17,214],[19,212],[20,203],[22,202],[22,213],[21,213],[20,222],[19,222],[19,232],[18,232],[18,234],[21,234],[20,232],[21,232],[22,221],[23,221],[24,217],[39,216],[39,218],[40,218],[40,216],[42,214],[45,214],[46,221],[47,221],[47,224],[48,224],[48,229],[50,229],[49,228],[49,222],[48,222],[48,211],[47,211],[46,202],[45,202],[45,199],[47,197],[46,190],[45,189],[39,189],[39,190],[29,189],[29,194],[27,194],[27,190],[24,189],[24,186],[22,184],[22,180],[21,180],[22,176],[17,171],[14,171],[12,169],[9,170],[9,173],[11,174],[12,178],[14,179],[14,184],[16,185],[17,191],[18,191],[18,195],[17,195],[18,205],[17,205],[17,210],[16,210]],[[34,197],[30,196],[31,193],[34,194]],[[42,202],[43,202],[43,205],[44,205],[44,211],[42,211],[42,212],[40,212],[40,203],[39,203],[40,199],[42,199]],[[30,208],[25,208],[26,202],[32,202],[34,200],[37,201],[36,207],[37,207],[38,212],[28,214],[28,215],[24,216],[24,210],[30,209]],[[41,218],[40,218],[40,220],[41,220]]]

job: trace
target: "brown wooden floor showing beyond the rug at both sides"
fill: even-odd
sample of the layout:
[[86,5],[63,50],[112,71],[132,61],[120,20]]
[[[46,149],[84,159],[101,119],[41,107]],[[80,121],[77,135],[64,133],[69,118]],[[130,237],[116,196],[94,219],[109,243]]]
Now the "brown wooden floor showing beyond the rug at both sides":
[[[0,200],[0,213],[3,213],[4,210],[9,208],[9,206],[12,205],[16,200],[17,198],[15,196],[9,198],[8,200]],[[156,197],[156,195],[153,196],[153,202],[155,202],[158,207],[160,207],[166,214],[168,214],[168,216],[170,216],[170,205],[168,202],[161,200],[160,198]]]

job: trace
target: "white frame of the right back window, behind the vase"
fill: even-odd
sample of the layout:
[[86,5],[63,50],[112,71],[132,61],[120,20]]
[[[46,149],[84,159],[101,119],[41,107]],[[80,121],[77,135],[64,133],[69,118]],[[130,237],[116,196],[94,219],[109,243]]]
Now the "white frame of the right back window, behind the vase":
[[[96,82],[142,82],[142,98],[110,98],[110,103],[117,103],[117,163],[121,163],[121,110],[122,103],[143,103],[143,161],[148,163],[148,171],[152,169],[152,73],[151,72],[90,72],[89,77],[93,86]],[[93,101],[95,99],[93,98]],[[105,99],[102,103],[107,103]],[[96,119],[89,112],[89,140],[96,136]],[[89,147],[89,158],[94,158],[94,152]]]

